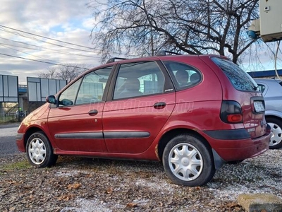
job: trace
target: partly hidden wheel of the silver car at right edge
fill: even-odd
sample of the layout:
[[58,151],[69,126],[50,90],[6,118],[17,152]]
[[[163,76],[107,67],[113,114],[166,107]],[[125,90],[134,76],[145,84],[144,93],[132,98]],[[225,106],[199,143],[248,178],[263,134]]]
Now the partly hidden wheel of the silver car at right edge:
[[282,122],[280,119],[266,117],[266,122],[271,126],[271,138],[269,148],[278,149],[282,147]]

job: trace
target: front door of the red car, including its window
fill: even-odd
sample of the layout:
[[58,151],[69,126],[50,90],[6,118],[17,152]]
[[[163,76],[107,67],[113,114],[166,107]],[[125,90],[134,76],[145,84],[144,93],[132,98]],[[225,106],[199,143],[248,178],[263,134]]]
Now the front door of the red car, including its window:
[[48,117],[51,139],[61,151],[106,152],[102,132],[104,90],[112,67],[85,74],[63,90]]

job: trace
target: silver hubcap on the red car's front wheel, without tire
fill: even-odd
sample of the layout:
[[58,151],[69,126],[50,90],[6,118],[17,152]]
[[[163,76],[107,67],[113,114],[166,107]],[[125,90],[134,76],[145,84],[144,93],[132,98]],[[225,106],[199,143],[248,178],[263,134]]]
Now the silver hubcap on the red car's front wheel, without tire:
[[46,147],[41,139],[32,139],[30,145],[28,146],[28,155],[32,163],[40,165],[44,162],[46,158]]

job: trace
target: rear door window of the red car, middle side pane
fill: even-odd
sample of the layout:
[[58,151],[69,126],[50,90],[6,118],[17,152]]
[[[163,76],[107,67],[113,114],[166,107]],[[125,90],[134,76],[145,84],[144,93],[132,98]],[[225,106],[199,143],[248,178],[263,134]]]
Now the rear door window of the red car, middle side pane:
[[154,61],[121,64],[114,99],[162,93],[164,75]]

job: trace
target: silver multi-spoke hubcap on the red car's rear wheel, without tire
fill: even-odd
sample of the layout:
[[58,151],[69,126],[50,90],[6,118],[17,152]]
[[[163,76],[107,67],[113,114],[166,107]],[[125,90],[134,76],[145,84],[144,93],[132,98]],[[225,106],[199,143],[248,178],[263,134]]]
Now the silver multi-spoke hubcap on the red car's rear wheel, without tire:
[[191,181],[200,176],[203,167],[202,155],[188,143],[179,143],[171,149],[168,163],[178,179]]

